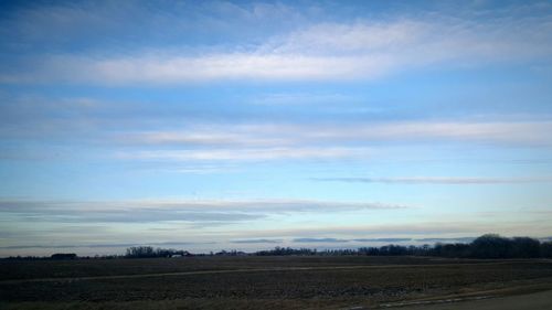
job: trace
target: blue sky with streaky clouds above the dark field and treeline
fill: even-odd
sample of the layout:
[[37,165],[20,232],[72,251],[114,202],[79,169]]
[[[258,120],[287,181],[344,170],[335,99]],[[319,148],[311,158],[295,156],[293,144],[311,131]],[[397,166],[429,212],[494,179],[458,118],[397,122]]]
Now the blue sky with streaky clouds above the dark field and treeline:
[[0,256],[552,236],[551,1],[0,7]]

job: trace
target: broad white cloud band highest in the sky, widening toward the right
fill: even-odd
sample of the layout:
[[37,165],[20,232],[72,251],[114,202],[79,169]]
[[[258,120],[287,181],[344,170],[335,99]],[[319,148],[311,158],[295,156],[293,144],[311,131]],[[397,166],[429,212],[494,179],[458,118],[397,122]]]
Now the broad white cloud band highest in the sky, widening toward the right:
[[181,84],[376,78],[433,64],[487,65],[549,58],[550,33],[552,25],[544,18],[526,18],[516,24],[437,17],[321,23],[270,38],[254,47],[225,47],[199,55],[172,49],[115,56],[50,56],[26,75],[21,71],[4,73],[0,81]]

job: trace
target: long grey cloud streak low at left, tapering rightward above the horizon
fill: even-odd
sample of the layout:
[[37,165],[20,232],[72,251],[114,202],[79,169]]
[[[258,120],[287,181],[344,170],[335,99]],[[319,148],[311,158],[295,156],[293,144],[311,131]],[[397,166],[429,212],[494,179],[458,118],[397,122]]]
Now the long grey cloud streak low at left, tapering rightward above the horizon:
[[309,200],[250,201],[0,201],[0,214],[25,222],[230,224],[275,214],[339,213],[362,210],[400,210],[383,203],[344,203]]

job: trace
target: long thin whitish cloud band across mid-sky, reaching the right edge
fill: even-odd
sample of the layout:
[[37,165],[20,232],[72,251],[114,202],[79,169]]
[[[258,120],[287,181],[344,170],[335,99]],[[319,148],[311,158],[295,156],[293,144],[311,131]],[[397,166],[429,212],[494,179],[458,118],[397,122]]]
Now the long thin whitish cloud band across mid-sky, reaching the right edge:
[[[182,130],[145,131],[117,138],[121,143],[245,147],[243,154],[232,150],[214,150],[208,153],[182,151],[166,153],[182,158],[301,158],[326,150],[320,157],[339,157],[350,149],[309,149],[305,146],[344,146],[347,142],[371,141],[467,141],[501,145],[551,146],[552,121],[388,121],[371,124],[327,125],[227,125],[190,127]],[[301,146],[295,149],[291,146]],[[262,149],[247,149],[258,148]],[[301,151],[302,149],[302,151]],[[269,152],[269,153],[267,153]],[[272,153],[272,156],[270,156]],[[179,154],[179,156],[177,156]],[[147,157],[148,153],[144,153]]]

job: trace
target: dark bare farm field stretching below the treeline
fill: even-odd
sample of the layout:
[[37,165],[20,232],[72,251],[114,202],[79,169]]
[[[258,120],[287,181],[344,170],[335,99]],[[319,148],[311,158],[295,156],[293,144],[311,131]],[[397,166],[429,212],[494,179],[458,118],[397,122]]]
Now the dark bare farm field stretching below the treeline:
[[552,260],[2,260],[0,277],[0,309],[552,309]]

